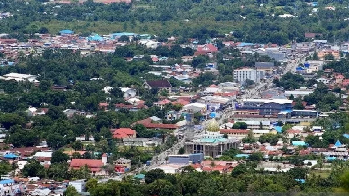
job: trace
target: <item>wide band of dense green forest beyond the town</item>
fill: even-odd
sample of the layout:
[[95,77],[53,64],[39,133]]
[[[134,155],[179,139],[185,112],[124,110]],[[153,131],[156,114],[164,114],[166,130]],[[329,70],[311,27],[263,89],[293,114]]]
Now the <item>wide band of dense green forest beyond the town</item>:
[[[344,20],[349,16],[348,2],[337,0],[319,0],[318,12],[312,12],[314,7],[304,0],[141,0],[110,5],[88,0],[60,7],[42,0],[15,2],[0,5],[1,11],[14,14],[0,21],[0,32],[16,32],[20,37],[72,29],[82,35],[133,31],[185,39],[222,37],[233,31],[232,40],[278,44],[302,42],[305,32],[322,33],[319,38],[330,42],[349,39],[349,20]],[[278,17],[283,14],[296,17]]]

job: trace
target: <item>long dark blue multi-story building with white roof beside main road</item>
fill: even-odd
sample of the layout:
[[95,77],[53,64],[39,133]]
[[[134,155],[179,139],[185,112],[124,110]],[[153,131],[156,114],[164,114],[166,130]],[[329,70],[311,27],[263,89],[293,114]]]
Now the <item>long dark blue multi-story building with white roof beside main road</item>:
[[279,112],[291,111],[292,100],[288,99],[244,99],[236,105],[236,110],[258,110],[262,115],[277,115]]

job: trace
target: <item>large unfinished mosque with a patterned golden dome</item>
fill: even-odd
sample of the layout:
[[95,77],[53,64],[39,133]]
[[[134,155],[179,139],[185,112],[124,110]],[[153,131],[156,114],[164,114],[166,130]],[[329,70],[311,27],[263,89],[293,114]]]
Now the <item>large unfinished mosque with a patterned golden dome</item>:
[[205,156],[216,157],[231,148],[237,148],[239,140],[224,138],[220,133],[219,124],[212,119],[208,122],[206,133],[185,143],[187,154],[203,153]]

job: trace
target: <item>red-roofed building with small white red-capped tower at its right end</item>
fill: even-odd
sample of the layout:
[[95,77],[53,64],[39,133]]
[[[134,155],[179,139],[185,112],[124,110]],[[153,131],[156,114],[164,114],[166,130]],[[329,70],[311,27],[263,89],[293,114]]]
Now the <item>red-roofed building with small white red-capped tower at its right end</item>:
[[107,163],[107,155],[104,153],[102,155],[102,160],[97,159],[72,159],[70,162],[70,167],[73,169],[79,169],[87,165],[87,167],[91,170],[91,174],[96,175],[104,175],[105,171],[103,171],[102,166]]

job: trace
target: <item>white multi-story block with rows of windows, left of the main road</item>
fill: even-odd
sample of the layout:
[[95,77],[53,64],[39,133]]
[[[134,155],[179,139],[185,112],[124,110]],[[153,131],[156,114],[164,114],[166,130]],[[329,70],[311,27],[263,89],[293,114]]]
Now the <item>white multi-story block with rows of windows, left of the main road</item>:
[[245,83],[246,79],[252,80],[254,83],[260,83],[264,75],[264,71],[250,68],[239,68],[233,71],[234,80],[239,83]]

